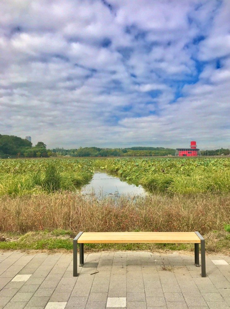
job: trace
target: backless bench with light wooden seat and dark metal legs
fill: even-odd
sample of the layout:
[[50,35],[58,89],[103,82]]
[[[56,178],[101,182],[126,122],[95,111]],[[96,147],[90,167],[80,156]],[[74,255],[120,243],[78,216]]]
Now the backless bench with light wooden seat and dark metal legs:
[[73,240],[73,276],[77,273],[77,244],[80,247],[80,265],[84,265],[84,244],[92,243],[194,243],[195,265],[199,266],[201,244],[201,276],[206,277],[205,240],[199,232],[80,232]]

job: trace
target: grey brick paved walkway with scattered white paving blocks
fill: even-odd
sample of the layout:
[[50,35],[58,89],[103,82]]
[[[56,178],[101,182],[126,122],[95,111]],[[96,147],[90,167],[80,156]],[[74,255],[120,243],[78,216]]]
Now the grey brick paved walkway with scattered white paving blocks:
[[230,257],[208,255],[207,277],[193,255],[0,252],[0,308],[218,308],[230,306]]

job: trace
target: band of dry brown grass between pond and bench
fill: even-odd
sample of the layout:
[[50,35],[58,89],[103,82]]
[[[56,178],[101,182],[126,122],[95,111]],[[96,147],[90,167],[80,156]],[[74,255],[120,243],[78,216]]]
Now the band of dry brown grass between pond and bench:
[[78,231],[223,231],[230,222],[230,195],[121,197],[85,200],[73,193],[0,199],[0,231],[61,228]]

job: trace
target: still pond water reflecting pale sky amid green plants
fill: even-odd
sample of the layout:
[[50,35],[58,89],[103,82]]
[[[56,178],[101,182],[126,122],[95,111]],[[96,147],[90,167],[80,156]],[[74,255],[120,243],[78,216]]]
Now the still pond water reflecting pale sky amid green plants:
[[95,173],[93,179],[81,190],[84,195],[95,195],[97,198],[115,197],[121,195],[137,196],[145,195],[143,187],[128,184],[121,181],[118,177],[114,177],[105,173]]

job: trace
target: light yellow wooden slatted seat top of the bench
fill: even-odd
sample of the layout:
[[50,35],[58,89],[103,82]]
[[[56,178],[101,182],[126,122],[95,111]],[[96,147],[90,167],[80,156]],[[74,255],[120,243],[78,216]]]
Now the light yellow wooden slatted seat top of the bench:
[[200,243],[195,232],[84,232],[78,243]]

